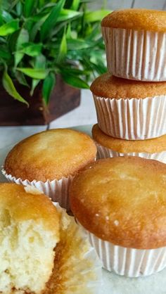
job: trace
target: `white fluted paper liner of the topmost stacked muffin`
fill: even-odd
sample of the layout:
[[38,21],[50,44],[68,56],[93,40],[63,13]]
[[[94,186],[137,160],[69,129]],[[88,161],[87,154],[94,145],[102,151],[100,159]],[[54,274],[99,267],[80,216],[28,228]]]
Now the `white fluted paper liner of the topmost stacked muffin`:
[[108,70],[125,79],[166,81],[166,33],[102,27]]

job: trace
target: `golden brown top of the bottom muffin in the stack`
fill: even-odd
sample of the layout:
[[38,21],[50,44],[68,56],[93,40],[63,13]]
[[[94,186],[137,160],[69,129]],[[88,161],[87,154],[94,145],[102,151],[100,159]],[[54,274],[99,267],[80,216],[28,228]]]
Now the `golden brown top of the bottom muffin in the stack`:
[[120,153],[166,151],[166,135],[148,140],[123,140],[106,135],[98,127],[98,124],[94,124],[92,136],[96,143]]

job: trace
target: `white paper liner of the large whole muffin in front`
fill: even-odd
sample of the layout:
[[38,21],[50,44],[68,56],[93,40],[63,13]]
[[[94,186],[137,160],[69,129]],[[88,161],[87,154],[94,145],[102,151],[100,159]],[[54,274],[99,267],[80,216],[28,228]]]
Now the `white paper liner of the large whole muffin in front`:
[[166,247],[157,249],[134,249],[114,245],[87,232],[103,267],[120,276],[137,278],[150,276],[166,267]]

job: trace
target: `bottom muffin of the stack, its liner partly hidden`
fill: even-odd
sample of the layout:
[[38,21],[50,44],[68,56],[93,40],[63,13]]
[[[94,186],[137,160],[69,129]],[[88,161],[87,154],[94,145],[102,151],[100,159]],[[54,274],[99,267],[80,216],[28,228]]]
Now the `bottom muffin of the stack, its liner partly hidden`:
[[148,140],[123,140],[104,134],[94,124],[92,137],[98,149],[98,158],[114,158],[130,155],[155,159],[166,163],[166,135]]

